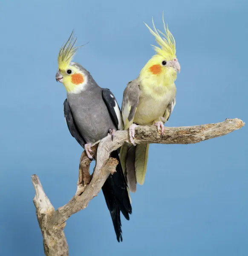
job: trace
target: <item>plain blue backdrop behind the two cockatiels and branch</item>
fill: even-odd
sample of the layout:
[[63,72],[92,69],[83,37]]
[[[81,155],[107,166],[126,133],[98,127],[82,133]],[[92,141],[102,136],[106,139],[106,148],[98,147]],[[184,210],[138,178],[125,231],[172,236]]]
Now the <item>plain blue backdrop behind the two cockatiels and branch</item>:
[[[41,3],[42,2],[42,3]],[[0,255],[42,256],[32,202],[37,174],[55,208],[74,195],[82,148],[63,117],[57,55],[72,29],[75,61],[121,104],[156,44],[143,21],[162,11],[181,73],[168,126],[248,121],[246,0],[1,1]],[[115,239],[102,192],[65,228],[71,256],[246,256],[246,127],[195,145],[151,145],[144,186],[132,194],[124,241]]]

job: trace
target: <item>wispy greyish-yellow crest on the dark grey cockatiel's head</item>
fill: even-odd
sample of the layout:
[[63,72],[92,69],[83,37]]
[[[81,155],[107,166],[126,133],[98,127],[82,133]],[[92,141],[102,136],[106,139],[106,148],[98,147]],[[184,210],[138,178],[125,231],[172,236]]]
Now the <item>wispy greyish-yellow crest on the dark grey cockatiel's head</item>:
[[70,62],[72,61],[73,56],[75,55],[76,51],[78,48],[82,47],[82,46],[78,46],[78,47],[74,47],[75,43],[77,41],[77,38],[75,38],[74,36],[74,30],[72,30],[72,33],[69,37],[69,39],[67,40],[66,43],[64,43],[58,53],[58,68],[63,70],[64,68],[66,68]]

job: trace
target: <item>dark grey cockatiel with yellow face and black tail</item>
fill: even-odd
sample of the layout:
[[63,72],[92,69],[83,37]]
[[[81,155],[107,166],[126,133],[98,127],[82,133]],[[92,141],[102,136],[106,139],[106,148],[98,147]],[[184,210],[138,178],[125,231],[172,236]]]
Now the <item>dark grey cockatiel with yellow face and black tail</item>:
[[[73,32],[62,45],[58,54],[56,81],[63,83],[67,91],[64,101],[64,116],[72,136],[92,158],[92,143],[113,136],[114,131],[123,128],[121,111],[116,99],[108,89],[98,86],[90,73],[80,64],[71,62],[78,47]],[[119,160],[118,151],[110,157]],[[129,220],[132,207],[127,192],[127,183],[119,160],[116,172],[110,175],[102,187],[107,207],[115,228],[116,238],[122,241],[120,211]]]

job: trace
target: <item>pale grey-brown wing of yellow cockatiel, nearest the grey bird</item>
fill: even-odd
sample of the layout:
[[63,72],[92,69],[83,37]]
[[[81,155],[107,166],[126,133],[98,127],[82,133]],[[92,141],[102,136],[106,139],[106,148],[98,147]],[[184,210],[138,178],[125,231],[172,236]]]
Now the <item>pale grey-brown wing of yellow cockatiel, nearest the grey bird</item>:
[[138,79],[130,81],[123,93],[121,114],[124,122],[124,129],[128,129],[133,123],[133,118],[138,106],[140,89]]

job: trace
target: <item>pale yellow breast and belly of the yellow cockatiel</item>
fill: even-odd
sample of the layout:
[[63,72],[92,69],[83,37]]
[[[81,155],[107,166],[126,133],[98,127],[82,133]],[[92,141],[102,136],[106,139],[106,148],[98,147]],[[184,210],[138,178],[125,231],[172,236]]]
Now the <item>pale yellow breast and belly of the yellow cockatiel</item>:
[[153,125],[160,121],[169,103],[176,96],[175,84],[147,86],[140,85],[139,103],[133,122],[139,125]]

